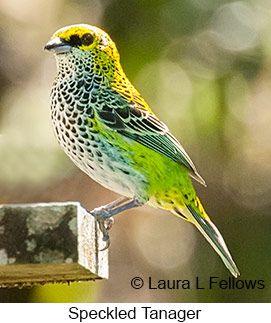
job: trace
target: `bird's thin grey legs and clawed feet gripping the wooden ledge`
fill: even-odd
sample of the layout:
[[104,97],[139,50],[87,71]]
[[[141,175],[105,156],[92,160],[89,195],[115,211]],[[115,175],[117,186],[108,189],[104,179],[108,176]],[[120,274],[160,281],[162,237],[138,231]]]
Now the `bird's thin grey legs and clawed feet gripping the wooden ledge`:
[[[112,224],[113,224],[113,219],[111,217],[120,212],[129,210],[144,204],[139,202],[136,199],[127,202],[128,200],[130,199],[127,197],[120,197],[116,201],[113,201],[105,206],[96,208],[93,211],[89,212],[98,221],[99,228],[103,233],[103,240],[106,242],[106,245],[102,250],[106,250],[110,245],[110,237],[109,237],[108,230],[112,227]],[[124,202],[127,202],[127,203],[121,205]]]

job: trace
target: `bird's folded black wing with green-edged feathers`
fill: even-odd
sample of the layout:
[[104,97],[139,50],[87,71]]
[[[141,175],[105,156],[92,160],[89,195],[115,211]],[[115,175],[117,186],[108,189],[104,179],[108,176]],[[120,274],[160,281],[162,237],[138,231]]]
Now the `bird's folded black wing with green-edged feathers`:
[[104,104],[98,115],[109,128],[184,165],[191,177],[206,186],[192,160],[168,127],[136,101],[122,100],[115,107]]

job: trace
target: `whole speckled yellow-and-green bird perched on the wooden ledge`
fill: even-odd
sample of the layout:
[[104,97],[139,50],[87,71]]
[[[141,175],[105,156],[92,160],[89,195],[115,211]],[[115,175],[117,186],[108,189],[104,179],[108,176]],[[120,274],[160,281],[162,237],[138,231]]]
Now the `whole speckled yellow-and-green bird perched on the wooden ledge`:
[[204,179],[127,78],[110,36],[96,26],[70,25],[57,30],[45,49],[57,64],[50,111],[58,143],[84,173],[120,195],[90,212],[99,222],[105,248],[112,216],[147,204],[194,224],[238,277],[191,181],[206,186]]

